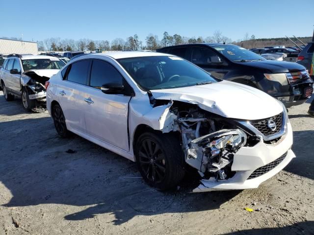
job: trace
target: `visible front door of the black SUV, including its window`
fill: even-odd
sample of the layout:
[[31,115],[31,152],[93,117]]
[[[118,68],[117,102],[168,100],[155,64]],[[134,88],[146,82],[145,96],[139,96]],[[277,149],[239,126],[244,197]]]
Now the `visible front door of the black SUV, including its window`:
[[191,47],[190,61],[217,78],[223,79],[228,72],[224,59],[208,47]]

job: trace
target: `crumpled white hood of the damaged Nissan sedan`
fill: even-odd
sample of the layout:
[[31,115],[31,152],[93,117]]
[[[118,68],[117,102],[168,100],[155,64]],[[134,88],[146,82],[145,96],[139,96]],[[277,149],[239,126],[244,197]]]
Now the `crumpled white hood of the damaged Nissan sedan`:
[[226,118],[257,120],[283,112],[280,102],[270,95],[229,81],[151,92],[156,99],[197,104],[201,109]]

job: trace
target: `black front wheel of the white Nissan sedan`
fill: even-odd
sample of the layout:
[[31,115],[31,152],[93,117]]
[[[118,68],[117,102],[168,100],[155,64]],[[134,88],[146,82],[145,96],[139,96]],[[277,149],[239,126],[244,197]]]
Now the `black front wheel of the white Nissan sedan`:
[[144,133],[135,145],[137,167],[145,182],[158,190],[173,188],[183,179],[183,151],[173,133]]

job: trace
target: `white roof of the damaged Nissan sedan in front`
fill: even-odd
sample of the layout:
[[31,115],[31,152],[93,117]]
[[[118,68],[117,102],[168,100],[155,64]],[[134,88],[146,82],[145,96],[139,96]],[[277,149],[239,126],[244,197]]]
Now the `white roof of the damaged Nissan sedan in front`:
[[115,51],[115,52],[106,52],[106,53],[91,53],[78,58],[88,58],[92,56],[109,56],[113,59],[122,59],[122,58],[132,58],[132,57],[143,57],[143,56],[175,56],[159,52],[150,52],[150,51]]

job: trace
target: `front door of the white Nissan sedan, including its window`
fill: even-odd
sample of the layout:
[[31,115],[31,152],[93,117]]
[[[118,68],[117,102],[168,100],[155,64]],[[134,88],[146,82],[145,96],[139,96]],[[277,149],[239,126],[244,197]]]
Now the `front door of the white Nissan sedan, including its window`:
[[106,83],[126,84],[126,81],[111,63],[94,59],[90,86],[84,88],[86,131],[99,140],[128,151],[128,106],[131,96],[103,93],[101,87]]

